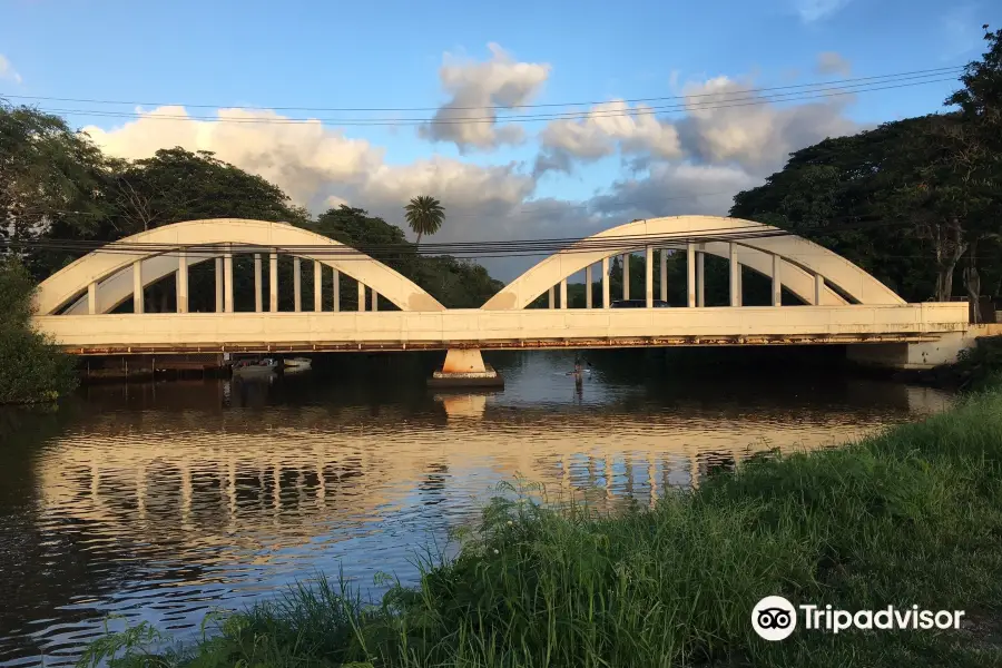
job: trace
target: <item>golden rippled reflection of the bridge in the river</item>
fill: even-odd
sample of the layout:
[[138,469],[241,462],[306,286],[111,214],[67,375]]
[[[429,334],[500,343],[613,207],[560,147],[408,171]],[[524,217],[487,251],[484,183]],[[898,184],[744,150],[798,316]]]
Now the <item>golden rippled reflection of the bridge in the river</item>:
[[[737,405],[700,409],[698,402],[646,415],[615,407],[512,412],[485,395],[436,397],[441,407],[431,414],[394,405],[272,406],[262,413],[224,409],[239,395],[226,387],[144,390],[202,406],[212,396],[216,411],[112,412],[87,420],[38,462],[42,507],[145,543],[271,551],[304,544],[330,528],[364,532],[387,509],[432,502],[446,487],[485,491],[517,474],[600,507],[627,494],[652,503],[666,488],[698,483],[709,470],[754,452],[857,438],[886,420],[888,405],[914,413],[945,402],[934,391],[902,386],[897,396],[883,396],[872,420],[796,407],[756,415]],[[469,521],[475,512],[475,504],[455,510],[452,520]]]

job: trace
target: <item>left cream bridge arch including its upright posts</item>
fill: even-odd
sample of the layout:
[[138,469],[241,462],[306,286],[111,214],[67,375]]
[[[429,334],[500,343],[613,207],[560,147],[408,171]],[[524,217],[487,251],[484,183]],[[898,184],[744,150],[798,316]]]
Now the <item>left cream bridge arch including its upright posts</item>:
[[[137,250],[143,244],[153,245],[156,249]],[[108,313],[124,301],[141,293],[144,287],[177,273],[178,311],[184,313],[187,311],[188,267],[213,258],[225,263],[223,271],[230,278],[225,282],[226,294],[222,299],[225,306],[217,304],[217,308],[233,311],[233,253],[227,245],[239,253],[268,254],[273,267],[278,249],[307,246],[316,248],[315,253],[304,250],[292,254],[296,258],[316,263],[316,275],[320,274],[321,265],[331,267],[335,271],[335,276],[341,273],[357,281],[360,294],[363,286],[367,286],[373,294],[382,295],[401,311],[429,312],[445,308],[412,281],[376,259],[362,256],[361,253],[325,253],[323,247],[348,248],[325,236],[287,223],[209,218],[143,232],[77,259],[39,285],[37,312],[39,315],[51,315],[60,311],[66,315]],[[219,268],[217,262],[217,271]],[[276,272],[272,271],[269,278],[269,306],[271,311],[275,311]],[[218,296],[223,286],[220,283],[217,285]],[[257,285],[258,296],[261,287]],[[86,292],[79,296],[81,291]]]

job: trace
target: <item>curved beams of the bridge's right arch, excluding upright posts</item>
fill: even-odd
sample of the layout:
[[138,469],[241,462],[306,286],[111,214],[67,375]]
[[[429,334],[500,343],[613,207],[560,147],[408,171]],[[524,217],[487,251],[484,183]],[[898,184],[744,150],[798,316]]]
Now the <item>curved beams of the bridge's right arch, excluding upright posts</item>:
[[[713,239],[713,237],[720,237],[721,229],[747,230],[752,234],[784,232],[770,225],[718,216],[672,216],[627,223],[588,237],[588,239],[612,242],[617,237],[626,237],[622,246],[617,247],[613,243],[603,245],[601,249],[596,250],[582,250],[571,246],[556,253],[508,284],[491,297],[483,308],[488,311],[524,308],[553,285],[606,257],[641,250],[645,245],[637,244],[638,236],[678,235],[691,236],[696,239],[699,237]],[[735,240],[739,243],[738,263],[759,273],[770,275],[769,256],[782,257],[785,261],[782,274],[784,286],[808,304],[814,303],[815,275],[823,276],[826,284],[837,286],[859,304],[898,305],[905,303],[886,285],[841,255],[798,236],[783,234],[782,236],[736,238]],[[700,250],[726,256],[727,248],[727,243],[707,240]],[[822,305],[845,303],[845,299],[831,287],[826,287],[822,295]]]

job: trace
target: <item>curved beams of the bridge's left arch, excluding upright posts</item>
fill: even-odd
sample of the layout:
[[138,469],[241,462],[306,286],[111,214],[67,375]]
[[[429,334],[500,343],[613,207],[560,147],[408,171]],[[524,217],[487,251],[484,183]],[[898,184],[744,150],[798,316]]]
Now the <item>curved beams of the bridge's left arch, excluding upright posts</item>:
[[[107,313],[131,295],[131,276],[125,275],[122,269],[130,267],[134,262],[143,262],[144,285],[156,283],[178,269],[179,259],[164,255],[164,246],[179,250],[238,244],[259,247],[263,253],[267,253],[268,248],[286,246],[348,247],[287,223],[244,218],[209,218],[157,227],[108,244],[105,248],[111,250],[115,246],[134,244],[156,244],[160,248],[155,253],[95,252],[77,259],[39,285],[36,297],[38,314],[50,315],[58,312],[73,301],[81,291],[86,291],[91,283],[98,283],[98,313]],[[222,249],[217,255],[222,255]],[[310,252],[295,255],[304,259],[317,261],[351,276],[377,292],[402,311],[445,310],[438,299],[412,281],[371,257],[358,258],[356,256],[352,258]],[[212,254],[191,256],[187,258],[188,265],[212,257]],[[82,311],[80,310],[81,303]],[[78,299],[70,306],[70,312],[82,313],[86,312],[86,308],[85,297],[82,302]]]

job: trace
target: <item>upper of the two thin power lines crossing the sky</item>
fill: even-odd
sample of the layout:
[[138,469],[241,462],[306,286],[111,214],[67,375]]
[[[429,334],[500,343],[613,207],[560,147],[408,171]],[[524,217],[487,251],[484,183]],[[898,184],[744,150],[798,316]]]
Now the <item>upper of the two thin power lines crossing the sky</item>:
[[[963,66],[949,66],[949,67],[939,67],[932,69],[923,69],[923,70],[912,70],[906,72],[894,72],[888,75],[875,75],[871,77],[853,77],[847,79],[836,79],[832,81],[822,81],[815,84],[792,84],[788,86],[772,86],[766,88],[746,88],[743,90],[733,91],[735,94],[747,94],[747,92],[769,92],[774,90],[793,90],[793,89],[802,89],[802,88],[816,88],[822,86],[838,86],[845,84],[854,84],[857,81],[878,81],[882,79],[898,79],[902,77],[912,77],[912,76],[921,76],[921,75],[943,75],[943,73],[952,73],[960,72],[964,69]],[[716,92],[704,92],[704,94],[692,94],[692,95],[679,95],[679,96],[661,96],[661,97],[646,97],[646,98],[631,98],[621,100],[628,105],[641,104],[641,102],[655,102],[655,101],[664,101],[664,100],[677,100],[677,99],[690,99],[690,98],[701,98],[701,97],[714,97],[720,94]],[[92,98],[65,98],[65,97],[45,97],[45,96],[32,96],[32,95],[0,95],[0,97],[6,97],[10,99],[23,99],[23,100],[42,100],[42,101],[53,101],[53,102],[84,102],[90,105],[129,105],[135,107],[187,107],[193,109],[239,109],[247,111],[435,111],[439,107],[257,107],[257,106],[229,106],[229,105],[193,105],[193,104],[179,104],[179,102],[137,102],[129,100],[104,100],[104,99],[92,99]],[[489,105],[482,107],[450,107],[450,109],[460,110],[460,111],[474,111],[474,110],[504,110],[504,109],[541,109],[541,108],[554,108],[554,107],[593,107],[596,105],[603,104],[608,100],[591,100],[584,102],[547,102],[547,104],[532,104],[532,105]]]

